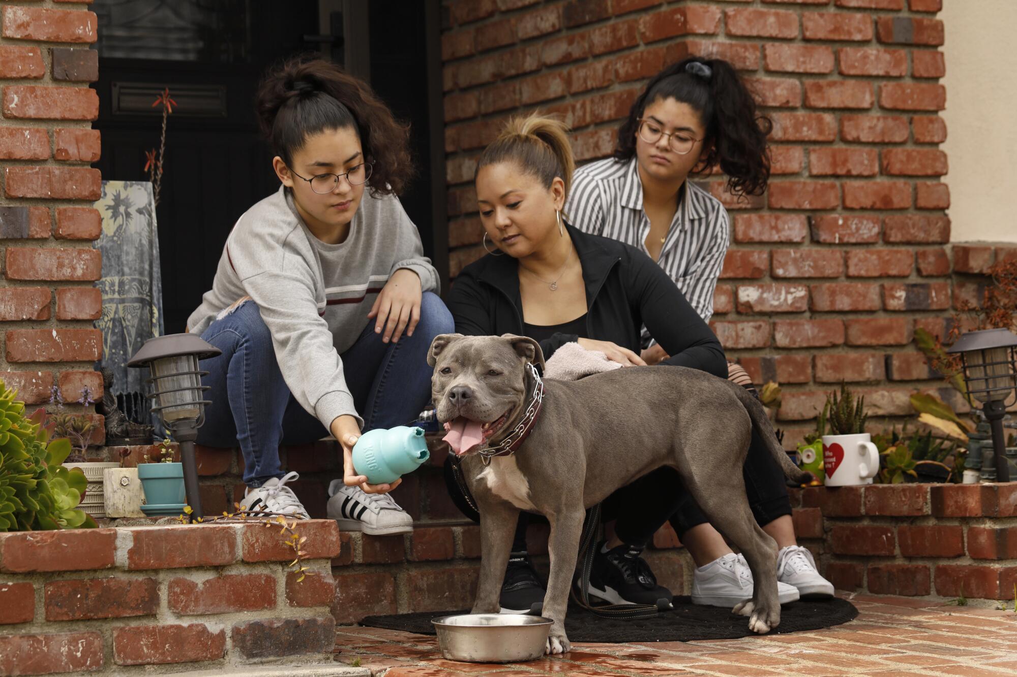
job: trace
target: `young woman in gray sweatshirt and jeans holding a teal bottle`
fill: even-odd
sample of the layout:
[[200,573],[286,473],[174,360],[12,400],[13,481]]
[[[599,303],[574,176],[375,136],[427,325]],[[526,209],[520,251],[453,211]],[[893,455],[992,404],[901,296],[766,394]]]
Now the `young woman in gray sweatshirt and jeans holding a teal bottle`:
[[212,289],[187,320],[222,355],[204,360],[212,405],[198,442],[244,457],[242,506],[307,517],[281,444],[332,434],[342,529],[399,534],[410,516],[356,473],[362,431],[416,419],[430,397],[426,353],[454,331],[438,276],[396,196],[412,175],[409,129],[370,88],[322,60],[268,74],[257,109],[281,186],[227,237]]

